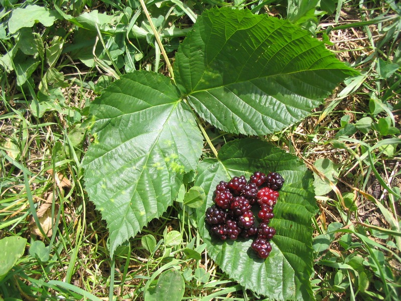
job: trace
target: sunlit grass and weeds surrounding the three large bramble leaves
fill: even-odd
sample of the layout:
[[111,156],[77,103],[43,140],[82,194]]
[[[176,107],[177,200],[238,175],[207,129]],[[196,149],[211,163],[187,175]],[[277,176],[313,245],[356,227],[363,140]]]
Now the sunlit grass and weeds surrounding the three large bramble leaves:
[[[134,25],[146,22],[144,14],[135,13],[140,4],[35,2],[71,16],[94,10],[114,16],[117,29],[125,35],[124,41],[117,41],[115,29],[88,23],[90,34],[85,36],[82,24],[74,26],[67,20],[49,26],[37,23],[9,34],[12,13],[29,3],[4,3],[0,238],[25,237],[28,247],[0,281],[0,299],[140,300],[146,286],[155,284],[160,273],[173,265],[182,267],[184,299],[260,299],[209,258],[192,226],[191,212],[182,210],[180,203],[110,259],[105,222],[84,189],[81,162],[90,137],[83,123],[90,101],[121,74],[141,69],[168,74],[157,43],[130,36]],[[166,56],[173,61],[179,41],[192,25],[192,14],[216,3],[188,2],[186,12],[170,10],[169,2],[148,5],[156,30],[175,27],[169,36],[163,32]],[[285,2],[237,5],[285,17]],[[299,124],[265,137],[302,158],[316,178],[327,180],[328,175],[319,160],[329,159],[335,166],[330,189],[316,197],[320,212],[312,220],[311,281],[317,299],[395,300],[399,295],[400,11],[391,1],[344,1],[331,14],[318,14],[315,22],[300,24],[326,41],[341,61],[361,70],[361,76],[338,87],[324,106]],[[106,23],[104,16],[99,20]],[[159,16],[162,22],[155,20]],[[217,148],[232,138],[212,127],[207,130]],[[166,229],[180,232],[182,241],[168,244]],[[149,250],[143,243],[147,235],[155,239]],[[31,252],[38,240],[45,247]],[[188,255],[188,249],[195,252]],[[167,258],[171,254],[174,260]]]

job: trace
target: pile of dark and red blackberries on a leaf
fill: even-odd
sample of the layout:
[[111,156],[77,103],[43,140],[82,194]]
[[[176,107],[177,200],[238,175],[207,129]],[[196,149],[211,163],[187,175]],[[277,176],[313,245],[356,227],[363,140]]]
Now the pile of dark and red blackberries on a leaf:
[[[215,204],[206,210],[205,221],[211,233],[222,240],[252,237],[251,248],[260,258],[267,258],[272,250],[269,240],[276,234],[268,224],[274,217],[273,208],[283,184],[279,173],[262,172],[255,172],[249,181],[245,176],[234,177],[228,183],[221,181],[214,192]],[[260,207],[258,225],[252,211],[254,205]]]

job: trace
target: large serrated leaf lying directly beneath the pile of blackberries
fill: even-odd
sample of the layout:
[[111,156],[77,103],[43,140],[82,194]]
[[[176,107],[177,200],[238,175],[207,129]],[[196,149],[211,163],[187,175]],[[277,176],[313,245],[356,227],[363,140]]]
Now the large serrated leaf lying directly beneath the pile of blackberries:
[[[199,231],[216,263],[246,288],[272,299],[313,299],[309,277],[312,268],[311,217],[317,207],[313,177],[293,155],[257,139],[239,139],[225,144],[219,159],[204,160],[195,185],[204,188],[207,202],[197,209]],[[249,177],[255,171],[275,171],[285,179],[270,225],[276,228],[273,250],[259,259],[250,250],[252,240],[221,241],[211,237],[205,225],[205,211],[213,204],[216,185],[233,176]]]

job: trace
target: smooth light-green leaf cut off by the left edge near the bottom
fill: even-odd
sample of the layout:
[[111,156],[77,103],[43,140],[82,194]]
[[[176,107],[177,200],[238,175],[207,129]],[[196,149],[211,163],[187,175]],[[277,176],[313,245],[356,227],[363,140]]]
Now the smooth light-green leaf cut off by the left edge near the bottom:
[[17,260],[24,254],[27,239],[20,236],[10,236],[0,239],[0,281],[6,277]]

